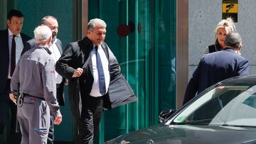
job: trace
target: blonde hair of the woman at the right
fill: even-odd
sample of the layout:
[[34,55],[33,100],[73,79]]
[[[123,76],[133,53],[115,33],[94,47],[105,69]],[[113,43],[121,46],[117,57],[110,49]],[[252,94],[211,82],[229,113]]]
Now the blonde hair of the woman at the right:
[[218,41],[217,40],[217,32],[218,32],[219,28],[225,28],[225,31],[227,32],[227,34],[230,33],[231,31],[234,31],[234,32],[236,31],[235,24],[234,24],[234,21],[232,18],[223,19],[218,23],[218,25],[216,26],[215,31],[214,31],[216,41]]

